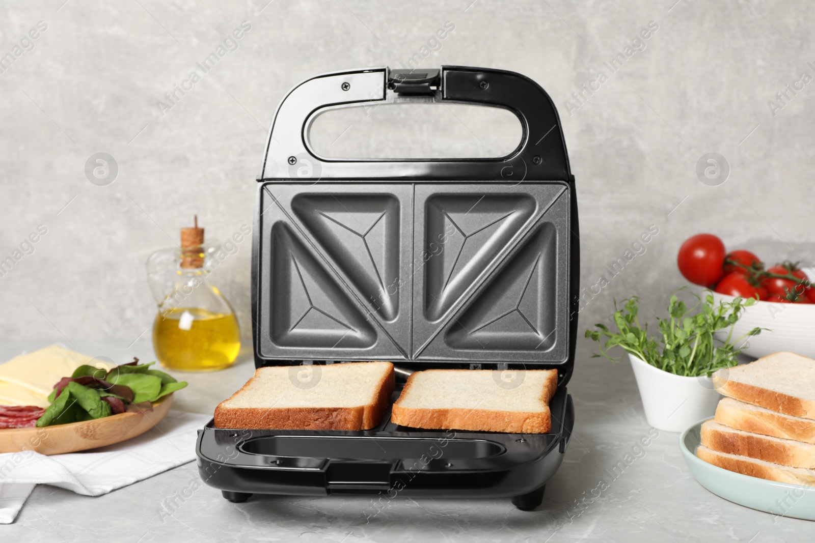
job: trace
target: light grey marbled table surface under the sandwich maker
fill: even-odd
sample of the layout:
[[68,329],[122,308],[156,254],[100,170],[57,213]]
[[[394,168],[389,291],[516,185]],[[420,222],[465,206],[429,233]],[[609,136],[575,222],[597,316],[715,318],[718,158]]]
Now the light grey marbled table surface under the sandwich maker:
[[[152,360],[147,339],[127,343],[80,342],[76,348],[114,361]],[[46,344],[0,343],[0,360]],[[815,523],[747,509],[698,484],[681,457],[678,434],[645,422],[628,362],[592,359],[592,348],[579,339],[568,385],[577,414],[573,439],[542,506],[532,512],[517,510],[509,499],[396,497],[378,513],[364,496],[256,495],[233,504],[200,484],[190,462],[99,497],[40,485],[15,523],[0,526],[0,541],[815,541]],[[252,372],[249,347],[227,370],[178,372],[190,386],[176,395],[174,409],[212,413]],[[611,475],[627,454],[633,462]],[[600,480],[607,483],[602,491]]]

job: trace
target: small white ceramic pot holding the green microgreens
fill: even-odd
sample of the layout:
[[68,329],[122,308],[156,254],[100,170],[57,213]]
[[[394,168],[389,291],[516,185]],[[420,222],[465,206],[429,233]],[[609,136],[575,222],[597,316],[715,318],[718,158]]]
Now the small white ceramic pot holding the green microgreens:
[[707,377],[684,377],[659,370],[628,354],[645,418],[657,430],[685,431],[716,413],[721,395]]

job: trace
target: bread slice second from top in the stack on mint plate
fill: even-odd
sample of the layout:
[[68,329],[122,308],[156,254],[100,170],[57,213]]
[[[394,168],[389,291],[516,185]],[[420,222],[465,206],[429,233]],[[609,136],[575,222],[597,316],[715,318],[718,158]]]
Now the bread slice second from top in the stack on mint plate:
[[733,398],[719,401],[715,420],[737,430],[815,444],[815,421],[776,413]]

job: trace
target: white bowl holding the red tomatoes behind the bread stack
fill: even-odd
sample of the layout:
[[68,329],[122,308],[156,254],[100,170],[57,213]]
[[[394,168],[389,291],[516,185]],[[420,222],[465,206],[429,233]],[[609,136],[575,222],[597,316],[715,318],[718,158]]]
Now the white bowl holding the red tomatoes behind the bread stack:
[[[734,296],[713,293],[716,305],[719,300],[733,301]],[[742,342],[736,339],[747,334],[756,326],[766,328],[759,335]],[[727,338],[728,329],[716,332],[716,339]],[[778,351],[789,351],[815,358],[815,304],[779,304],[778,302],[759,301],[744,309],[742,317],[733,327],[730,339],[742,353],[751,357],[764,357]],[[742,344],[747,341],[746,344]]]

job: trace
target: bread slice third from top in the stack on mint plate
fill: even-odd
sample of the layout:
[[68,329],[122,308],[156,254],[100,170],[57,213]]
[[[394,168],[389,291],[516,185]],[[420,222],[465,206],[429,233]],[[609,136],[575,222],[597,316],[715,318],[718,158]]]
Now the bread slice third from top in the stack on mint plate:
[[815,444],[761,436],[712,420],[702,424],[702,444],[720,453],[747,456],[781,466],[815,469]]

